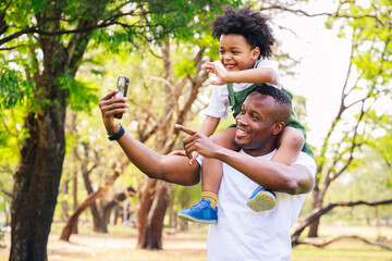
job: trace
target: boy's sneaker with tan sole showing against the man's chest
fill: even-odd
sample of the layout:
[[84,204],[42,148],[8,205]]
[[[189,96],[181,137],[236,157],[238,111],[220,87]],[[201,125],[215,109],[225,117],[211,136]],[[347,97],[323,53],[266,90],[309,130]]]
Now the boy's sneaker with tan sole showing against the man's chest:
[[246,204],[256,212],[271,210],[277,204],[277,196],[273,191],[258,186]]

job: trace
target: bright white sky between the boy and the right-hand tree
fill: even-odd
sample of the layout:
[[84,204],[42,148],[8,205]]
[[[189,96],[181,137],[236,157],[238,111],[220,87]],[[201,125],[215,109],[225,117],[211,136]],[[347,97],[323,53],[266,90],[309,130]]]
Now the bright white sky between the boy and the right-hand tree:
[[[333,9],[333,1],[316,1],[307,8],[309,13]],[[282,48],[295,59],[301,59],[294,77],[284,76],[282,85],[295,95],[306,98],[308,142],[322,144],[332,120],[340,107],[341,92],[348,69],[351,44],[338,37],[336,32],[324,27],[326,16],[306,17],[284,14],[272,17],[274,25],[284,25],[291,30],[275,28],[274,35]]]

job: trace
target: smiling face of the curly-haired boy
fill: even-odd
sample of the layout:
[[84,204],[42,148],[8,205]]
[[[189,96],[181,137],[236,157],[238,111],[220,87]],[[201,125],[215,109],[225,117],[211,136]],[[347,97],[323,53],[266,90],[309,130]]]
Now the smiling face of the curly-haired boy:
[[242,35],[222,35],[219,42],[219,60],[228,72],[253,69],[260,54],[258,47],[252,49]]

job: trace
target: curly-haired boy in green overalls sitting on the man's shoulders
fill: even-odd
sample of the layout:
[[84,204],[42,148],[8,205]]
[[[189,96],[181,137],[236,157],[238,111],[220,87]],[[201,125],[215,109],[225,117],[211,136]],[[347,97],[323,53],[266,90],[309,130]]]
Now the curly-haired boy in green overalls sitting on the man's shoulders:
[[[220,63],[207,63],[205,70],[217,76],[210,80],[217,85],[213,89],[207,114],[200,132],[211,136],[220,119],[226,116],[231,105],[233,116],[241,113],[241,105],[248,94],[258,85],[267,84],[281,89],[278,71],[265,59],[272,54],[275,41],[268,17],[253,11],[249,7],[233,10],[228,9],[223,16],[218,16],[212,23],[212,36],[220,40]],[[260,121],[255,114],[253,121]],[[278,140],[278,151],[272,161],[292,164],[305,144],[305,128],[295,120],[291,121]],[[294,127],[292,127],[294,126]],[[298,130],[299,128],[301,130]],[[238,150],[233,142],[235,128],[229,128],[213,135],[212,140],[225,148]],[[238,128],[236,135],[252,133],[252,129]],[[305,152],[311,150],[305,146]],[[184,209],[179,216],[184,220],[215,224],[217,217],[218,189],[222,177],[222,163],[215,159],[204,159],[201,171],[201,200],[189,209]],[[254,211],[270,210],[275,204],[273,191],[258,186],[250,196],[247,206]]]

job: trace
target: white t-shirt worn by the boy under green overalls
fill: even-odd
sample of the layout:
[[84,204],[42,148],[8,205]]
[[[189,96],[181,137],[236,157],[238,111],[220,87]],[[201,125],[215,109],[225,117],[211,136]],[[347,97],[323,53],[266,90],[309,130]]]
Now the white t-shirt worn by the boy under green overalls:
[[[220,61],[216,61],[213,63],[225,71],[224,66]],[[278,66],[273,62],[268,60],[261,60],[258,63],[256,62],[255,65],[256,64],[257,67],[268,67],[274,70],[277,77],[273,83],[268,83],[268,85],[281,89]],[[211,75],[212,75],[211,77],[216,77],[213,74]],[[249,83],[233,84],[233,91],[234,92],[241,91],[243,89],[250,87],[253,84]],[[206,110],[201,112],[201,114],[219,117],[219,119],[225,119],[228,117],[228,109],[230,105],[228,87],[226,85],[211,85],[211,86],[213,86],[213,90],[209,105],[207,107]]]

